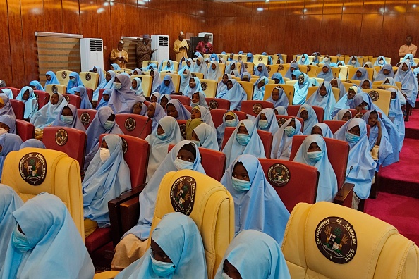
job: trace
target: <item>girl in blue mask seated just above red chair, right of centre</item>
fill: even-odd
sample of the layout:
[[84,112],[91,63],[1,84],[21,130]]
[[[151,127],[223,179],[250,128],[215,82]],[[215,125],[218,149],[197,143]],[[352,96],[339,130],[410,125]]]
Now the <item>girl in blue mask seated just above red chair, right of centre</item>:
[[294,135],[303,135],[301,123],[296,118],[290,118],[274,135],[271,151],[272,159],[289,160]]

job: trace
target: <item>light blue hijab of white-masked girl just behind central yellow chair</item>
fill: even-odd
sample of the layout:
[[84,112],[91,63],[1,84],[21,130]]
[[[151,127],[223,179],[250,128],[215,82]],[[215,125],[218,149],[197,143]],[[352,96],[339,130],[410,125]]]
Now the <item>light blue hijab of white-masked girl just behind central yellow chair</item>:
[[200,151],[196,144],[189,140],[183,140],[176,144],[174,148],[171,149],[169,154],[167,154],[166,158],[164,158],[162,163],[160,163],[160,166],[157,168],[156,172],[141,192],[139,197],[140,217],[138,218],[138,223],[135,227],[128,230],[123,237],[132,233],[136,237],[140,238],[140,240],[147,240],[150,236],[150,228],[154,216],[154,207],[156,206],[157,192],[159,191],[160,182],[162,182],[164,175],[169,173],[169,171],[178,171],[174,161],[183,145],[186,144],[191,144],[193,148],[195,148],[195,161],[193,162],[192,171],[199,171],[200,173],[206,174],[204,168],[201,166]]

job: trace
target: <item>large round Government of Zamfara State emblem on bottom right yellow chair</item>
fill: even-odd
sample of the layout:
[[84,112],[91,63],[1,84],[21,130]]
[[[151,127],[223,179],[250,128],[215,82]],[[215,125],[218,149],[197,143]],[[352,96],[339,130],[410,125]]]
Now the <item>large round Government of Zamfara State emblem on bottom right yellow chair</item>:
[[315,230],[315,242],[323,256],[339,264],[351,261],[358,245],[353,226],[339,217],[320,221]]

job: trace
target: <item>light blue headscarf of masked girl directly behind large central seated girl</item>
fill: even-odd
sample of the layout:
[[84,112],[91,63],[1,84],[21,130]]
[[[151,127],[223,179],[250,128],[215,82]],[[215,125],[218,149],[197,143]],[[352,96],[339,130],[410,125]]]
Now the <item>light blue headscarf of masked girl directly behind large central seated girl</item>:
[[[241,145],[237,141],[238,128],[241,125],[245,126],[250,136],[250,140],[246,145]],[[266,158],[265,149],[263,147],[262,140],[260,140],[260,137],[257,134],[255,123],[249,119],[241,120],[238,123],[236,129],[234,129],[234,132],[231,134],[231,137],[224,146],[224,149],[222,149],[222,152],[226,154],[226,166],[230,166],[238,156],[243,154],[254,155],[257,158]]]

